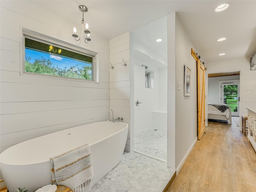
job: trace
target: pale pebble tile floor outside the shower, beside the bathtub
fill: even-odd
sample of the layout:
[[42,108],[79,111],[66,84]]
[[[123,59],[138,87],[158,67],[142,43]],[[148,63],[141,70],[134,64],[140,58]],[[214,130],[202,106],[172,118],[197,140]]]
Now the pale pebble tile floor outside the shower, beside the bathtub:
[[91,192],[162,192],[174,172],[165,162],[136,152],[124,153],[121,162],[92,186]]

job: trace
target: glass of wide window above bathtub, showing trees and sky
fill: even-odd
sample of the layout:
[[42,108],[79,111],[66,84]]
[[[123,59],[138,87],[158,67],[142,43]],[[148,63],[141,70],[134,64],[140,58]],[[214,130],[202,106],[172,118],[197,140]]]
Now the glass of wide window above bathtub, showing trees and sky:
[[94,56],[36,37],[24,34],[25,73],[94,80]]

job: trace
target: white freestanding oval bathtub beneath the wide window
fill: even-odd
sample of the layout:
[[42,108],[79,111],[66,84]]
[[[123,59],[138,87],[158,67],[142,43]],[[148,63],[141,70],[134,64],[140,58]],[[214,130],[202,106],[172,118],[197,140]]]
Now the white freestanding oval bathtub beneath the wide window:
[[90,144],[94,185],[120,162],[127,134],[128,124],[106,121],[21,142],[0,154],[4,182],[9,192],[15,192],[19,187],[33,192],[52,184],[50,158]]

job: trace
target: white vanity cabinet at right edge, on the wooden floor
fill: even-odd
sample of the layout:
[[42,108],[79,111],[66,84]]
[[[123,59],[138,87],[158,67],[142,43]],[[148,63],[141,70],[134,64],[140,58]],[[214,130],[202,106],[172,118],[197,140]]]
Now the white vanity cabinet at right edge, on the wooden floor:
[[[248,140],[252,144],[252,147],[256,151],[256,109],[248,109]],[[251,136],[252,131],[252,136]]]

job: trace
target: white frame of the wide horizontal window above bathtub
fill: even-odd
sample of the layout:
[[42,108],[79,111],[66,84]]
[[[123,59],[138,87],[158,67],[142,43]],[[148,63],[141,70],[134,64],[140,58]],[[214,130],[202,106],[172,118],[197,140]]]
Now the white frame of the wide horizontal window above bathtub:
[[[40,76],[44,78],[99,83],[99,66],[100,66],[99,53],[76,46],[74,44],[70,44],[68,42],[58,40],[56,38],[52,38],[50,36],[46,36],[44,34],[40,34],[38,32],[29,30],[26,28],[22,28],[21,33],[22,34],[20,36],[21,37],[20,42],[22,43],[20,44],[20,50],[22,50],[22,52],[21,52],[21,62],[20,62],[20,75]],[[76,52],[79,54],[83,54],[85,56],[92,57],[92,80],[25,72],[25,37],[30,38],[32,40],[36,40],[38,42],[52,44],[54,46],[64,48],[66,50],[70,50],[72,52]]]

